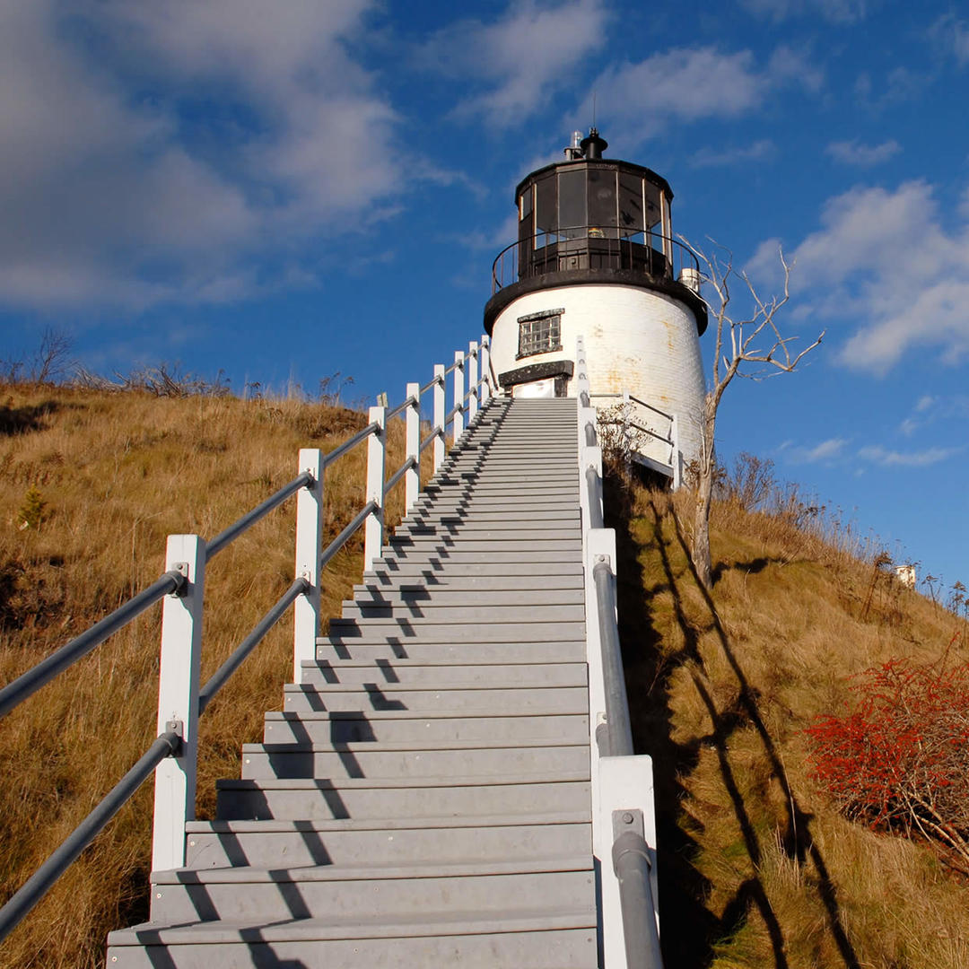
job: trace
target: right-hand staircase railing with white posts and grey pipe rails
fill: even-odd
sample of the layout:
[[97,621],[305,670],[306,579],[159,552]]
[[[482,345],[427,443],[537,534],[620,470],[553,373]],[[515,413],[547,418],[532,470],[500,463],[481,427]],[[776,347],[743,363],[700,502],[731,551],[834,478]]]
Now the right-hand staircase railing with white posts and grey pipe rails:
[[635,755],[616,626],[615,532],[604,527],[602,448],[583,340],[576,349],[579,506],[592,751],[592,844],[604,964],[662,969],[652,762]]

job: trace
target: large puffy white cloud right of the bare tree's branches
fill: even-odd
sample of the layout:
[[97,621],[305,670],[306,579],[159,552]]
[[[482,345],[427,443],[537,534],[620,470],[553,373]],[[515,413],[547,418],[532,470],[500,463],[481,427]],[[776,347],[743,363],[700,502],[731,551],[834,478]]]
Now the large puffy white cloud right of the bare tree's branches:
[[[944,228],[930,185],[851,189],[821,223],[793,253],[792,291],[801,316],[855,324],[842,362],[885,373],[920,346],[948,363],[969,354],[969,224]],[[775,262],[768,240],[748,270],[771,281]]]

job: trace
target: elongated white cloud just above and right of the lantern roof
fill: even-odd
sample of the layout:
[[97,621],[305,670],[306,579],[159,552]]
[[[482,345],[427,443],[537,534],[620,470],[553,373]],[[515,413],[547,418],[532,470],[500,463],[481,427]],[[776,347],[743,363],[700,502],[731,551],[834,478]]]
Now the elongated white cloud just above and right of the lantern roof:
[[759,68],[750,50],[675,47],[610,67],[593,84],[601,116],[642,140],[670,120],[735,118],[759,109],[788,84],[816,91],[824,76],[806,55],[778,47]]

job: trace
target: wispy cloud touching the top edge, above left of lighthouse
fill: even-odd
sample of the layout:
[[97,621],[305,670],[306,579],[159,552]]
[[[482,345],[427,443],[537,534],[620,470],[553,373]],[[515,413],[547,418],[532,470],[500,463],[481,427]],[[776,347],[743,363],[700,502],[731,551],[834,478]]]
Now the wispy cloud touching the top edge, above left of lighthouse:
[[419,60],[445,77],[485,85],[458,103],[456,116],[514,127],[574,79],[582,59],[605,42],[607,18],[600,0],[554,7],[525,0],[494,23],[469,19],[443,28],[422,46]]

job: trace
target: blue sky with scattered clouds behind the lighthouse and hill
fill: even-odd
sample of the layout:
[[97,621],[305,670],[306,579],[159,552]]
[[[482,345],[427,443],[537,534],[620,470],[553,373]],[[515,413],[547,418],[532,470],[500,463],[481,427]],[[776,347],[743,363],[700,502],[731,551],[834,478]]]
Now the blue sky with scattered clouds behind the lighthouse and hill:
[[[797,375],[732,387],[772,458],[969,582],[969,14],[890,0],[0,0],[0,357],[351,399],[481,332],[512,193],[596,121],[728,246]],[[708,341],[704,341],[708,343]],[[708,347],[705,348],[708,355]]]

